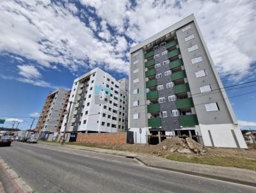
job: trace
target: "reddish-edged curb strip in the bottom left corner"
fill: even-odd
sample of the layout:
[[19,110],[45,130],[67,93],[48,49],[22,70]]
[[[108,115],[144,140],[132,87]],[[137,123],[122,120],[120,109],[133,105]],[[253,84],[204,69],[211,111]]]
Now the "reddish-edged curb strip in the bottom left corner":
[[[11,169],[3,159],[0,158],[0,167],[2,167],[3,171],[10,177],[11,180],[17,185],[19,190],[22,190],[24,193],[33,193],[34,191],[26,184],[25,181],[20,178],[20,176]],[[1,182],[0,182],[0,192],[1,192]]]

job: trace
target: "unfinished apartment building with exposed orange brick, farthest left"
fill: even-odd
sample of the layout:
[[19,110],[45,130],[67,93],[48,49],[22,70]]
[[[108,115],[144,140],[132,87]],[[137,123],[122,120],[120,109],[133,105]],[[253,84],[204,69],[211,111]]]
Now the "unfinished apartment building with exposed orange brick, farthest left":
[[70,91],[64,89],[57,89],[47,96],[36,131],[60,132],[69,96]]

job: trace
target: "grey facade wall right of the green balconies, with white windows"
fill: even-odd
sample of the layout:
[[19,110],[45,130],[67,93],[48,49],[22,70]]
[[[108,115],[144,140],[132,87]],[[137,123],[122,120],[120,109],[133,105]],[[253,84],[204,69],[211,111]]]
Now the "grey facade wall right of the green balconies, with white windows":
[[[191,29],[183,32],[182,29],[177,29],[177,39],[179,42],[180,52],[184,62],[184,67],[188,77],[189,87],[191,90],[191,95],[195,105],[196,114],[198,117],[198,122],[201,124],[222,124],[222,123],[233,123],[230,112],[228,111],[227,104],[221,93],[220,86],[216,79],[216,76],[212,70],[211,63],[204,49],[204,45],[198,35],[198,31],[195,27],[195,23],[191,22]],[[185,41],[186,36],[194,35],[195,38]],[[192,45],[198,45],[198,49],[189,52],[188,47]],[[193,64],[191,59],[202,56],[203,61],[200,63]],[[204,77],[197,78],[195,72],[198,70],[206,70],[207,75]],[[200,87],[211,84],[212,91],[210,93],[200,93]],[[228,99],[226,99],[228,100]],[[207,112],[205,109],[205,104],[217,102],[220,107],[220,111]]]

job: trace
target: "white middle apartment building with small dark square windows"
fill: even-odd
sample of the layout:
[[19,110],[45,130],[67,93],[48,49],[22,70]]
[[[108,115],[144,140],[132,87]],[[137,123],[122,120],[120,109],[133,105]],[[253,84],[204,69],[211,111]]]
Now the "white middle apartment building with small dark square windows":
[[[128,121],[127,79],[116,81],[100,68],[74,81],[67,132],[124,132]],[[65,115],[61,132],[65,129]]]

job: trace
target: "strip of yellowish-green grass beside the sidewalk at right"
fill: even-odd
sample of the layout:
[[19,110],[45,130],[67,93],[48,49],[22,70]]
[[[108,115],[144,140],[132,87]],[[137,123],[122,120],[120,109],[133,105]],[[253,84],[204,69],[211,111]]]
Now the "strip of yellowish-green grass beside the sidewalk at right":
[[212,166],[238,167],[243,169],[256,170],[256,160],[239,157],[207,157],[191,155],[169,155],[170,160],[189,162],[195,164],[207,164]]

